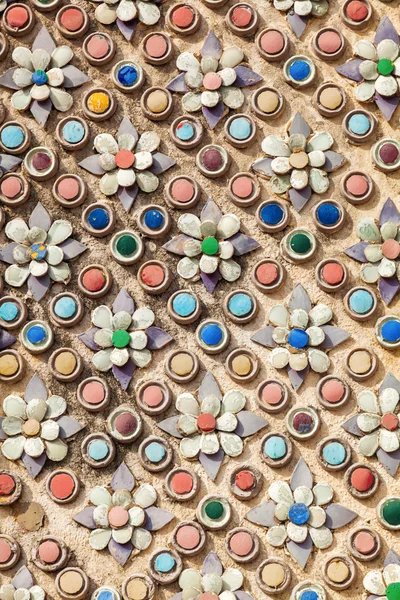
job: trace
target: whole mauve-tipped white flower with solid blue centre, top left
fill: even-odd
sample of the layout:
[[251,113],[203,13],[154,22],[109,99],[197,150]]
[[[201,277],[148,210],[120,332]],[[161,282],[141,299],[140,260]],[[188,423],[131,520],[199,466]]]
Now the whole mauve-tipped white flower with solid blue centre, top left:
[[0,77],[0,85],[18,90],[11,99],[13,108],[22,111],[30,108],[42,127],[52,107],[68,111],[73,98],[63,87],[75,88],[89,81],[87,75],[68,64],[73,56],[69,46],[56,47],[46,27],[36,36],[32,51],[25,46],[15,48],[12,58],[18,67]]

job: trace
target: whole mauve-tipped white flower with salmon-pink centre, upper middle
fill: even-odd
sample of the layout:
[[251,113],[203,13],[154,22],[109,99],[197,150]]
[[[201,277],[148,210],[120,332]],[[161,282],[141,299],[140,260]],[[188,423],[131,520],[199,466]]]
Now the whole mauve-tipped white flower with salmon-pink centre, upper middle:
[[240,108],[245,100],[241,88],[262,81],[262,77],[241,64],[244,53],[238,46],[223,49],[210,31],[200,50],[200,60],[191,52],[178,56],[181,75],[167,89],[184,93],[182,106],[188,112],[203,111],[210,129],[214,129],[230,108]]

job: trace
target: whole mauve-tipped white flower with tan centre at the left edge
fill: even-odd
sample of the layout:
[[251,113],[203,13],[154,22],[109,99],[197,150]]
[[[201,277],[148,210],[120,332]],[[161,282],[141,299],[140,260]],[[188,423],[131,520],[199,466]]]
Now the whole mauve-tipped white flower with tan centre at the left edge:
[[33,478],[41,472],[46,459],[64,460],[68,446],[63,440],[84,427],[65,416],[66,410],[64,398],[49,396],[43,381],[35,374],[23,397],[10,394],[3,400],[5,418],[0,419],[3,456],[8,460],[21,458]]

